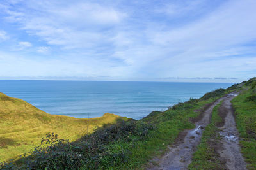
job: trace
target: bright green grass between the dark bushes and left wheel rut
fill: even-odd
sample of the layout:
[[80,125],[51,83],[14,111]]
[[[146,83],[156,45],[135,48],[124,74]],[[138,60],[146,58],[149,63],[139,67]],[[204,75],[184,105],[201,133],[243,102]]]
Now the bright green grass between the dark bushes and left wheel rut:
[[[154,131],[150,131],[148,139],[138,141],[136,145],[129,145],[129,143],[120,143],[122,147],[126,147],[131,151],[130,159],[127,162],[116,166],[117,169],[134,169],[147,163],[152,159],[152,156],[162,155],[168,145],[171,145],[180,132],[184,129],[192,129],[195,127],[189,121],[190,118],[198,117],[199,113],[195,112],[199,108],[204,108],[205,104],[216,100],[213,97],[207,100],[190,100],[187,103],[177,104],[162,113],[152,114],[152,117],[147,117],[141,122],[150,122],[156,125]],[[136,137],[134,137],[136,138]],[[156,164],[156,162],[152,162]],[[114,167],[113,167],[114,168]]]

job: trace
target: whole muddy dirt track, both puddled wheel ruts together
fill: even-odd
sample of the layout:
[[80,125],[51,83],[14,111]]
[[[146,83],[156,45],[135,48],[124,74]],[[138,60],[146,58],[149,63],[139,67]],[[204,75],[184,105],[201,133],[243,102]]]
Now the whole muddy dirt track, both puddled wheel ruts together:
[[[196,146],[200,143],[202,137],[202,131],[206,127],[210,120],[214,106],[223,100],[223,116],[225,117],[225,124],[221,127],[223,130],[220,132],[223,136],[223,148],[219,153],[221,158],[227,162],[228,169],[246,169],[244,159],[240,153],[238,132],[236,129],[236,123],[233,117],[232,104],[230,101],[236,96],[236,94],[228,94],[225,97],[221,97],[214,103],[208,106],[204,111],[201,120],[196,122],[196,128],[186,130],[182,132],[182,138],[173,146],[169,146],[169,152],[163,157],[155,158],[153,161],[157,162],[158,166],[151,165],[147,169],[187,169],[191,163],[193,153],[196,150]],[[222,126],[222,125],[221,125]]]

